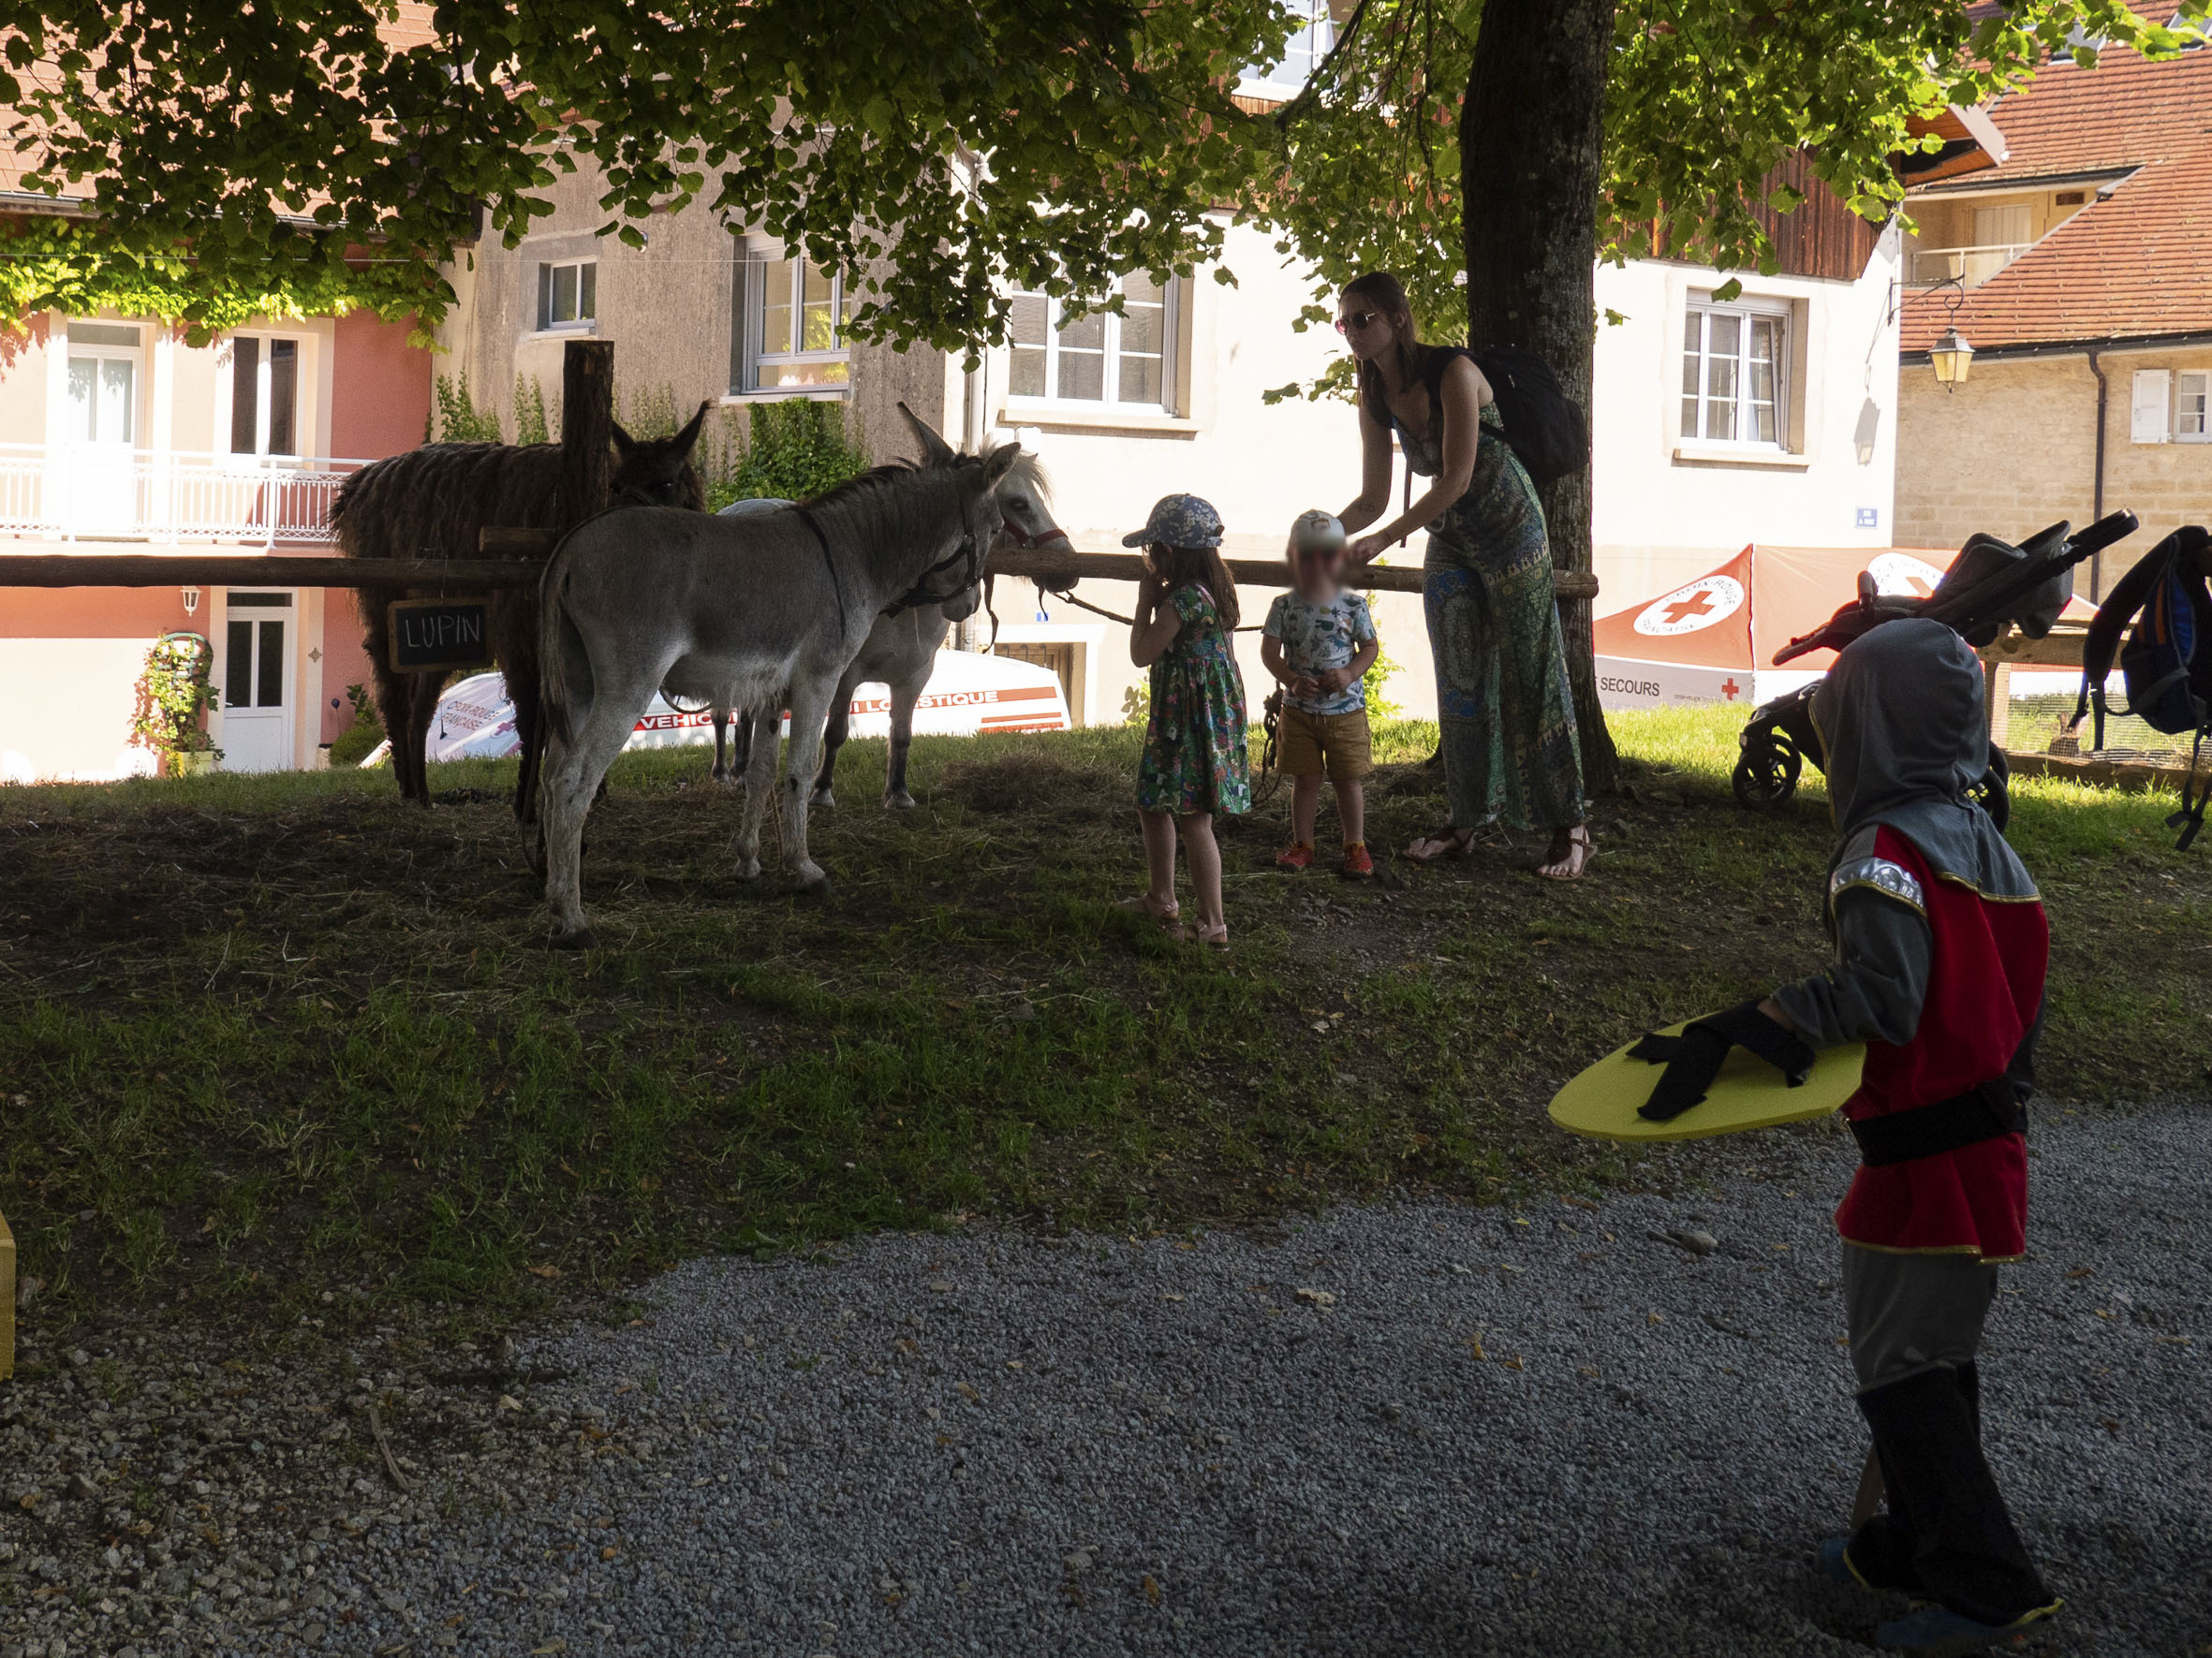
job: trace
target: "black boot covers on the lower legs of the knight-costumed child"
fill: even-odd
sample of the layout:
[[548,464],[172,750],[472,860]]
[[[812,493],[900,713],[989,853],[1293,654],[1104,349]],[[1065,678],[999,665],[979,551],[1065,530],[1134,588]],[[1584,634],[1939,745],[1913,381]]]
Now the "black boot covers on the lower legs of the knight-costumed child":
[[1922,1371],[1858,1395],[1882,1459],[1889,1512],[1851,1539],[1851,1565],[1878,1587],[1927,1594],[1975,1623],[2008,1625],[2053,1596],[1982,1459],[1978,1404],[1971,1366]]

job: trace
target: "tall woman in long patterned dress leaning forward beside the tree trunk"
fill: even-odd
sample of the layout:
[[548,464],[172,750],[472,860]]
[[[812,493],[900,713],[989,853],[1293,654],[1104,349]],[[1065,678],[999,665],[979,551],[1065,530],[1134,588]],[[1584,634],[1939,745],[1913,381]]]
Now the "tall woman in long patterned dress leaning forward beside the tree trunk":
[[1360,363],[1360,497],[1340,513],[1345,528],[1389,511],[1391,431],[1407,464],[1431,480],[1405,513],[1349,548],[1365,564],[1407,533],[1429,531],[1422,604],[1451,822],[1405,856],[1422,864],[1464,858],[1475,829],[1498,818],[1548,831],[1551,851],[1535,873],[1575,880],[1590,858],[1590,829],[1535,484],[1506,447],[1482,369],[1460,347],[1413,336],[1396,276],[1347,283],[1336,329]]

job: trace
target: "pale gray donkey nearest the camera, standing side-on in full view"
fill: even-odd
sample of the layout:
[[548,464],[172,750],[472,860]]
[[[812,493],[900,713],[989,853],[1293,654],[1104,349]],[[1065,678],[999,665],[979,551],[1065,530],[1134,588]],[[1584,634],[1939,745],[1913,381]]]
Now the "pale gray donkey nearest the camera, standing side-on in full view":
[[[949,453],[949,451],[947,451]],[[783,856],[803,891],[830,878],[807,856],[807,789],[838,679],[894,604],[945,604],[975,584],[1000,513],[993,486],[1020,458],[876,466],[803,506],[710,517],[666,506],[604,513],[553,553],[540,586],[546,714],[544,831],[553,942],[593,944],[580,862],[606,767],[661,688],[721,707],[790,694]],[[776,718],[754,716],[737,873],[761,873],[761,814]]]

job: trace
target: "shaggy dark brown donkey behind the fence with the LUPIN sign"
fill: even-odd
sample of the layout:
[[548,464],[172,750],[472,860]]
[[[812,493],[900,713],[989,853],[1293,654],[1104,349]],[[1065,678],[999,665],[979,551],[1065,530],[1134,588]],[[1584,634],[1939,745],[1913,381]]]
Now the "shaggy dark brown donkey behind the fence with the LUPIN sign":
[[[706,486],[692,471],[690,451],[708,405],[672,438],[635,440],[615,427],[617,506],[690,506],[706,511]],[[487,524],[511,528],[557,528],[560,444],[422,444],[389,455],[338,486],[330,522],[338,550],[349,559],[480,559],[478,531]],[[542,564],[542,559],[529,559]],[[409,597],[405,588],[354,588],[363,643],[376,670],[376,710],[392,736],[392,772],[403,800],[429,805],[425,743],[445,674],[398,674],[387,652],[387,606]],[[515,736],[522,741],[522,774],[515,778],[515,818],[538,818],[538,763],[544,754],[538,692],[538,584],[491,592],[491,657],[507,676],[515,705]]]

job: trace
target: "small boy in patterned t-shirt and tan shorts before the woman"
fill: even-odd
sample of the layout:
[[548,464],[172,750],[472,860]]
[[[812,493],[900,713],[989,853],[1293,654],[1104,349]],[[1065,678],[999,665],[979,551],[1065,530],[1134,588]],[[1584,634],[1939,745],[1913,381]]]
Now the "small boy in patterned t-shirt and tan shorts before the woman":
[[1290,778],[1290,849],[1276,869],[1314,867],[1314,818],[1321,776],[1336,789],[1336,820],[1345,833],[1345,875],[1376,873],[1367,856],[1367,802],[1360,778],[1374,772],[1367,741],[1367,670],[1380,641],[1367,599],[1345,592],[1345,526],[1329,513],[1301,513],[1290,528],[1290,568],[1296,581],[1267,610],[1259,659],[1283,688],[1279,758]]

